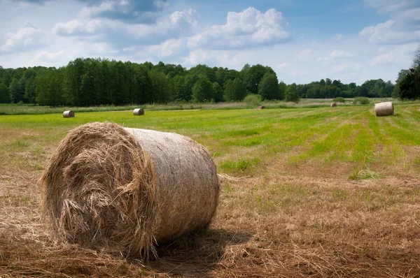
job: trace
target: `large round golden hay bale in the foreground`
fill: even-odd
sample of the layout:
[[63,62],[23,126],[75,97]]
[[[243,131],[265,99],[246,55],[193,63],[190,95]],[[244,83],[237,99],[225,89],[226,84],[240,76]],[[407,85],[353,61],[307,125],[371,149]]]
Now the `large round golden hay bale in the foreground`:
[[175,133],[91,123],[73,129],[43,177],[43,212],[69,242],[124,256],[206,227],[218,203],[206,149]]

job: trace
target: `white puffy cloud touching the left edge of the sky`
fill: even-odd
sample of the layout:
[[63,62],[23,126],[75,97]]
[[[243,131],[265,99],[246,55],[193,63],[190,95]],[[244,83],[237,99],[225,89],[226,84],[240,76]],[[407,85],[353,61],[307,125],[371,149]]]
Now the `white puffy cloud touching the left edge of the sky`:
[[25,24],[16,33],[7,33],[0,52],[22,52],[43,47],[48,43],[45,31],[31,24]]

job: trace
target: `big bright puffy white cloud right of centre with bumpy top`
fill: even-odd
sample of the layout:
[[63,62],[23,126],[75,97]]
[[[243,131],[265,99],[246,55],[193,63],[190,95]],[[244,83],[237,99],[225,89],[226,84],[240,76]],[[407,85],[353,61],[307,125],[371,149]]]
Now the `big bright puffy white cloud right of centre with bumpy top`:
[[228,13],[224,25],[207,27],[199,34],[191,36],[188,38],[188,47],[239,49],[281,43],[290,38],[285,30],[286,25],[276,9],[262,13],[250,7],[241,13]]

